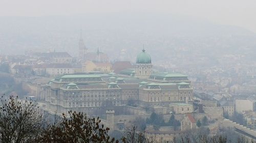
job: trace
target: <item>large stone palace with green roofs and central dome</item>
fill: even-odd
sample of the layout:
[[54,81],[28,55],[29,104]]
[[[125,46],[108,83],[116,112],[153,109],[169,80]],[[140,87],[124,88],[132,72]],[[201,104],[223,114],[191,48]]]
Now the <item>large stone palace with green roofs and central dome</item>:
[[57,115],[69,110],[102,115],[109,108],[121,114],[131,104],[168,113],[170,104],[193,100],[190,83],[180,73],[153,72],[151,56],[143,49],[135,69],[119,74],[64,74],[49,81],[41,94],[45,95],[45,110]]

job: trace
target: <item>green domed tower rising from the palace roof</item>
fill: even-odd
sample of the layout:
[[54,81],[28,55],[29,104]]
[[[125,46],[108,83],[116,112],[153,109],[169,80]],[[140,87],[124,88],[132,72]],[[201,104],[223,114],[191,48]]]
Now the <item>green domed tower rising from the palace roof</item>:
[[137,55],[135,77],[148,78],[152,73],[151,56],[143,48],[142,52]]

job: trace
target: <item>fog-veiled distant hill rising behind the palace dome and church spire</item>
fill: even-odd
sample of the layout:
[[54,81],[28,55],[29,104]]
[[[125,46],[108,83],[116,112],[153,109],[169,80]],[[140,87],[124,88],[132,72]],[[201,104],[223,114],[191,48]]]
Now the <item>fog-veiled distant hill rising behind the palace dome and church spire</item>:
[[0,17],[0,52],[56,49],[77,55],[80,29],[89,50],[99,47],[111,54],[111,60],[135,60],[143,44],[155,60],[190,50],[200,54],[212,50],[216,54],[215,50],[223,46],[227,52],[240,52],[256,45],[253,32],[205,19],[161,13],[105,13]]

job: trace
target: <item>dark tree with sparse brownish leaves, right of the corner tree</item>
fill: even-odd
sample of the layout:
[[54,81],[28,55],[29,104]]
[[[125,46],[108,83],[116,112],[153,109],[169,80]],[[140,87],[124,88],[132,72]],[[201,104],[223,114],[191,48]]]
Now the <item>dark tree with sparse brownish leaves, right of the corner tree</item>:
[[87,118],[80,112],[69,112],[70,118],[63,114],[63,119],[49,125],[42,134],[44,142],[97,142],[112,143],[118,142],[108,135],[109,128],[100,125],[100,119]]

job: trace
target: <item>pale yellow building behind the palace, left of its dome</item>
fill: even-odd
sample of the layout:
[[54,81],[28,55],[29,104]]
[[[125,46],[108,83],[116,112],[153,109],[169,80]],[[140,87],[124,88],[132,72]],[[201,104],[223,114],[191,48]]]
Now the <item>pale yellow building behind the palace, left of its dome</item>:
[[110,63],[97,63],[93,61],[86,61],[82,65],[82,71],[102,71],[105,73],[110,73],[112,71],[112,65]]

